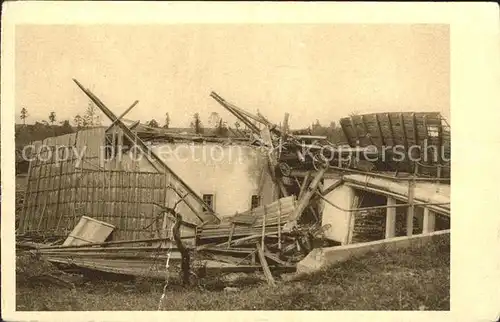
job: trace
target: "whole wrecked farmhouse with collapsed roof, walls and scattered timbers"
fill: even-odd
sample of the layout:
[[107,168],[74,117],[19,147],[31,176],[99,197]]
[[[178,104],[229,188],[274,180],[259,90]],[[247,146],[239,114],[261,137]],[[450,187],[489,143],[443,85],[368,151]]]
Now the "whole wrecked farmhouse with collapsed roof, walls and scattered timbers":
[[[221,138],[125,123],[133,106],[117,115],[75,83],[112,124],[34,144],[51,148],[34,149],[17,242],[53,263],[159,279],[177,270],[185,283],[261,271],[273,284],[450,232],[450,128],[439,113],[345,117],[339,145],[212,92],[245,126]],[[424,149],[410,147],[426,145],[438,157],[415,161]]]

